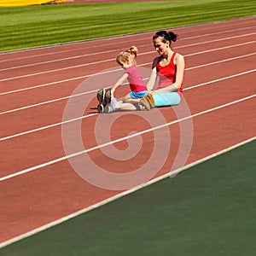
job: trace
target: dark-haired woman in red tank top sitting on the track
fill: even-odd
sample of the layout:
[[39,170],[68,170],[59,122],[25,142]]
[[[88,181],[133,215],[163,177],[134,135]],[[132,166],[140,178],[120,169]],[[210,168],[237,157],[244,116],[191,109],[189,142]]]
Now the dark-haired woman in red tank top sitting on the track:
[[[174,52],[171,48],[172,42],[177,40],[174,32],[159,31],[154,34],[154,48],[160,55],[153,61],[150,78],[148,80],[148,96],[140,100],[144,108],[166,107],[177,105],[183,94],[183,76],[185,61],[183,55]],[[159,85],[154,90],[154,84],[159,77]],[[107,96],[109,112],[117,110],[137,110],[137,106],[131,103],[117,102],[111,91]]]

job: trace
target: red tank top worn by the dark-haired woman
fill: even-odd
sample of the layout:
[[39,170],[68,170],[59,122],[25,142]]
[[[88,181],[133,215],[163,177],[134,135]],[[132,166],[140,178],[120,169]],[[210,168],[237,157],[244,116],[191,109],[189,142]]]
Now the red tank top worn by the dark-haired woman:
[[[165,67],[160,66],[160,61],[161,60],[160,60],[160,58],[158,59],[157,64],[156,64],[156,71],[158,72],[158,75],[159,75],[159,86],[158,86],[158,88],[164,88],[168,85],[171,85],[171,84],[175,83],[176,70],[177,70],[177,67],[173,62],[175,55],[176,55],[176,52],[174,52],[172,54],[172,58],[171,58],[170,63]],[[177,90],[177,92],[179,94],[183,93],[183,84],[181,84],[181,86]]]

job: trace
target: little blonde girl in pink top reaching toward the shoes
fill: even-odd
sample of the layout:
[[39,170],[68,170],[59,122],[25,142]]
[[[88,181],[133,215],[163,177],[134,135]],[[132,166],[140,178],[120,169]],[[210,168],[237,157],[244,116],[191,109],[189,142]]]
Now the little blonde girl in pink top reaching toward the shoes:
[[[137,57],[137,47],[131,46],[130,49],[125,49],[119,53],[116,61],[119,65],[125,69],[123,76],[113,85],[109,90],[101,89],[97,93],[97,99],[99,101],[98,111],[99,113],[109,113],[117,110],[119,104],[131,103],[139,104],[140,99],[143,96],[147,96],[147,86],[143,83],[141,73],[136,67],[135,58]],[[124,83],[125,79],[128,79],[131,92],[122,98],[119,102],[113,97],[114,91]],[[109,104],[112,102],[112,104]],[[124,107],[124,105],[123,105]]]

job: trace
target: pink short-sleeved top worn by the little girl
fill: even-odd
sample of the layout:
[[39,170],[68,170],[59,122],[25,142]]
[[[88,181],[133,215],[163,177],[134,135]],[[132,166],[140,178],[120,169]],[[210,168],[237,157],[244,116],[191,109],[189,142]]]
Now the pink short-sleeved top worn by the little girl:
[[143,82],[143,78],[139,70],[135,65],[125,69],[125,73],[128,74],[128,81],[130,84],[131,91],[143,91],[147,90],[147,86]]

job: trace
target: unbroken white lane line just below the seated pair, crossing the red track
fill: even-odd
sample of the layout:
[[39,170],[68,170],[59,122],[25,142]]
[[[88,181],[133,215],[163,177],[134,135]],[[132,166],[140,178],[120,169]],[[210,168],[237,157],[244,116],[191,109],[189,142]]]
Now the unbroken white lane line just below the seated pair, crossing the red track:
[[158,129],[161,129],[161,128],[163,128],[163,127],[169,126],[169,125],[177,124],[177,123],[182,122],[182,121],[184,121],[184,120],[186,120],[186,119],[192,119],[192,118],[198,117],[198,116],[200,116],[200,115],[202,115],[202,114],[210,113],[210,112],[212,112],[212,111],[218,110],[218,109],[220,109],[220,108],[230,107],[231,105],[234,105],[234,104],[237,104],[237,103],[240,103],[240,102],[244,102],[244,101],[250,100],[250,99],[252,99],[252,98],[255,97],[255,96],[256,96],[256,94],[251,95],[251,96],[247,96],[247,97],[241,98],[241,99],[239,99],[239,100],[236,100],[236,101],[234,101],[234,102],[228,102],[228,103],[225,103],[225,104],[220,105],[220,106],[218,106],[218,107],[207,109],[207,110],[202,111],[202,112],[200,112],[200,113],[194,113],[194,114],[189,115],[189,116],[187,116],[187,117],[184,117],[184,118],[182,118],[182,119],[177,119],[177,120],[174,120],[174,121],[172,121],[172,122],[166,123],[166,124],[164,124],[164,125],[158,125],[158,126],[155,126],[155,127],[153,127],[153,128],[150,128],[150,129],[148,129],[148,130],[140,131],[140,132],[134,133],[134,134],[132,134],[132,135],[129,135],[129,136],[126,136],[126,137],[122,137],[122,138],[119,138],[119,139],[117,139],[117,140],[113,140],[113,141],[111,141],[111,142],[109,142],[109,143],[103,143],[103,144],[101,144],[101,145],[97,145],[97,146],[95,146],[95,147],[93,147],[93,148],[84,149],[84,150],[79,151],[79,152],[76,152],[76,153],[74,153],[74,154],[64,155],[64,156],[62,156],[62,157],[60,157],[60,158],[57,158],[57,159],[55,159],[55,160],[49,160],[48,162],[44,162],[43,164],[39,164],[38,166],[32,166],[32,167],[30,167],[30,168],[26,168],[25,170],[22,170],[22,171],[19,171],[19,172],[15,172],[15,173],[9,174],[9,175],[7,175],[7,176],[0,177],[0,182],[3,182],[3,181],[5,181],[5,180],[8,180],[8,179],[13,178],[13,177],[18,177],[18,176],[20,176],[20,175],[22,175],[22,174],[26,174],[26,173],[28,173],[28,172],[36,171],[36,170],[38,170],[38,169],[40,169],[40,168],[43,168],[43,167],[45,167],[45,166],[54,165],[54,164],[59,163],[59,162],[61,162],[61,161],[63,161],[63,160],[68,160],[68,159],[70,159],[70,158],[79,156],[79,155],[81,155],[81,154],[89,153],[89,152],[91,152],[91,151],[93,151],[93,150],[96,150],[96,149],[98,149],[98,148],[105,148],[105,147],[107,147],[107,146],[109,146],[109,145],[111,145],[111,144],[119,143],[119,142],[122,142],[122,141],[126,141],[127,139],[129,139],[129,138],[131,138],[131,137],[137,137],[137,136],[140,136],[140,135],[142,135],[142,134],[144,134],[144,133],[148,133],[148,132],[150,132],[150,131],[158,130]]

